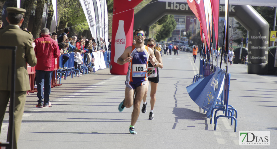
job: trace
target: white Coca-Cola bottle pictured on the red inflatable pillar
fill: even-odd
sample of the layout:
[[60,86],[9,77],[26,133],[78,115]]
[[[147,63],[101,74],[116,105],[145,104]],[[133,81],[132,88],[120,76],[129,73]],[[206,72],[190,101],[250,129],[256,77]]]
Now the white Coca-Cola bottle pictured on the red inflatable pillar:
[[114,40],[114,62],[122,55],[126,46],[126,35],[124,31],[124,21],[118,21],[118,29],[116,32],[116,39]]

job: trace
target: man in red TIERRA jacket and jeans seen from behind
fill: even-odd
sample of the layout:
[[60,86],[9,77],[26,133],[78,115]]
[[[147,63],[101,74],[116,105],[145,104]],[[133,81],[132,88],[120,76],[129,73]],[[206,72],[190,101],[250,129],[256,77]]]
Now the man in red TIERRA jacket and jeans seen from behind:
[[38,108],[49,107],[54,58],[60,56],[58,43],[50,37],[49,29],[43,28],[40,32],[41,36],[34,41],[36,45],[34,50],[37,57],[35,74],[37,78],[37,97],[39,98],[39,104],[36,107]]

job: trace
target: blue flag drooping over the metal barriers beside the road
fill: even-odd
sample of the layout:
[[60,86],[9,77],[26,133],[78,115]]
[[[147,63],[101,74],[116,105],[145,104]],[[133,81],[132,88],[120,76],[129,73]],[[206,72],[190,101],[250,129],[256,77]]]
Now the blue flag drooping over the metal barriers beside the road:
[[217,66],[216,72],[186,87],[191,99],[207,111],[207,118],[210,118],[211,110],[222,93],[224,78],[225,71]]

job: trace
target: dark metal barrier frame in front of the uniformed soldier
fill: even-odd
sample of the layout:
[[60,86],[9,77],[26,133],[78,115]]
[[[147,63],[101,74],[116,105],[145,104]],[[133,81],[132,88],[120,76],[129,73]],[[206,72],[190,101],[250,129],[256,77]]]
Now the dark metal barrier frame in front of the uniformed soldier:
[[14,142],[14,96],[15,96],[15,86],[16,86],[16,50],[17,46],[0,46],[0,49],[3,51],[12,50],[12,67],[11,67],[11,91],[10,91],[10,106],[9,106],[9,128],[11,128],[11,131],[9,132],[9,142],[6,143],[0,143],[1,147],[6,147],[7,149],[13,148],[13,142]]

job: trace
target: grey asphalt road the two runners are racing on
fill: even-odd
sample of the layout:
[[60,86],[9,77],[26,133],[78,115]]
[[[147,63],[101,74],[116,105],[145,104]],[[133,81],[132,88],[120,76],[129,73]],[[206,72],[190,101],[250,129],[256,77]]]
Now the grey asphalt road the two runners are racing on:
[[[135,125],[137,135],[129,134],[133,108],[118,111],[126,76],[111,75],[104,69],[62,80],[62,86],[52,88],[49,108],[35,108],[36,93],[30,93],[19,149],[277,148],[277,76],[247,74],[247,66],[242,64],[229,66],[229,104],[238,111],[237,132],[226,118],[219,118],[214,131],[214,124],[186,91],[199,73],[199,55],[196,63],[188,52],[165,55],[162,60],[154,120],[148,119],[148,94],[147,112],[140,113]],[[6,139],[7,116],[3,124],[1,142]],[[241,146],[240,131],[270,131],[270,146]]]

